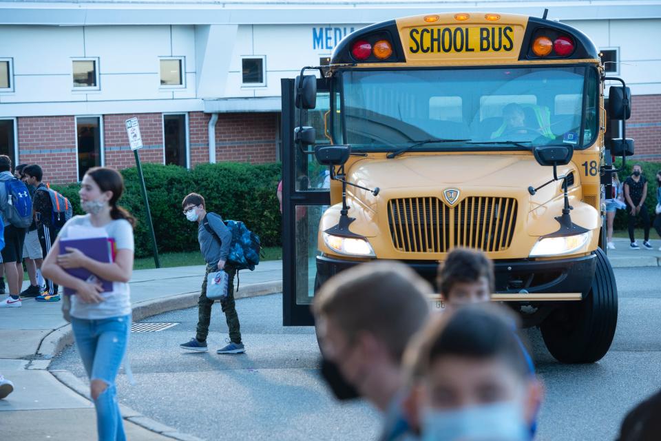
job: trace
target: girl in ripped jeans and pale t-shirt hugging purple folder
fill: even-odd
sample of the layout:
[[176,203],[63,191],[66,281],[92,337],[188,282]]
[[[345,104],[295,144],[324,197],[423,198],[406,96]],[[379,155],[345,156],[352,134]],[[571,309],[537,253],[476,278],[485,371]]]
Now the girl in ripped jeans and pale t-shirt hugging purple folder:
[[[71,300],[71,325],[90,378],[101,441],[126,439],[114,383],[131,329],[128,282],[133,271],[135,219],[117,205],[123,191],[124,181],[116,170],[107,167],[88,170],[78,192],[81,208],[87,214],[74,216],[65,223],[42,266],[44,277],[76,293],[65,298]],[[78,236],[72,232],[81,229],[96,229],[113,240],[114,261],[103,263],[72,247],[65,247],[65,253],[60,254],[60,240]],[[83,280],[67,272],[74,268],[84,268],[96,278],[112,282],[112,289],[105,291],[100,281]]]

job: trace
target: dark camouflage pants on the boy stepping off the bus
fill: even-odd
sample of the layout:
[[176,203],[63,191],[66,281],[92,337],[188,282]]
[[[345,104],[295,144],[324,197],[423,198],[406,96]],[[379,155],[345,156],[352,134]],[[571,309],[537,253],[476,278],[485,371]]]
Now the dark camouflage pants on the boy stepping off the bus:
[[[218,267],[207,265],[207,271],[204,274],[204,280],[202,281],[202,292],[200,292],[200,299],[198,300],[198,333],[196,335],[196,338],[200,341],[207,340],[207,335],[209,335],[211,306],[213,306],[213,300],[209,300],[209,298],[207,298],[207,276],[209,276],[209,273],[216,271],[218,271]],[[225,300],[220,300],[220,307],[222,308],[222,312],[225,314],[225,320],[227,320],[227,327],[229,328],[229,339],[233,343],[240,343],[241,332],[239,316],[236,314],[236,307],[234,304],[234,275],[236,274],[236,269],[226,265],[224,271],[229,275],[229,286],[227,298]]]

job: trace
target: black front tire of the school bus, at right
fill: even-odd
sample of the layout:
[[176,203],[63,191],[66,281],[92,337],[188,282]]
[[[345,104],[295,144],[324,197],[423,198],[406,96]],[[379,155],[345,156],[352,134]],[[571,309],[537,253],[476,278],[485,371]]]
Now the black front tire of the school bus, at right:
[[618,287],[605,252],[598,248],[589,294],[569,302],[541,325],[547,349],[563,363],[593,363],[608,352],[618,322]]

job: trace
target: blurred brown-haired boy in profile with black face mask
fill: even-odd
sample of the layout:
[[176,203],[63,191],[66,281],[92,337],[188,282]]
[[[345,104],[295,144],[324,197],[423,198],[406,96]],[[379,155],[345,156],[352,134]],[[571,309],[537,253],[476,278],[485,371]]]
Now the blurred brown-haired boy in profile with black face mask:
[[[323,356],[339,370],[337,382],[346,381],[384,413],[379,440],[410,439],[401,406],[401,357],[428,318],[431,292],[406,265],[373,262],[342,271],[315,296]],[[337,385],[330,385],[337,393]]]

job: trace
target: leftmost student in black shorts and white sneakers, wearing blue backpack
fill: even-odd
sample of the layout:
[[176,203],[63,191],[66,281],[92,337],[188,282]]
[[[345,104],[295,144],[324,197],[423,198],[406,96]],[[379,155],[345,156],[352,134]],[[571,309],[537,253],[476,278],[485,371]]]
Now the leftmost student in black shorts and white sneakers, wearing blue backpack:
[[[7,181],[15,179],[11,170],[12,160],[9,156],[0,155],[0,214],[5,227],[5,247],[2,249],[1,255],[9,287],[9,296],[0,301],[0,307],[20,307],[21,285],[23,285],[23,271],[19,274],[17,262],[23,260],[23,242],[25,241],[26,229],[10,223],[10,210],[14,210],[12,204],[17,203],[17,201],[13,201],[10,204],[10,195],[5,185]],[[27,194],[25,196],[29,197]]]

